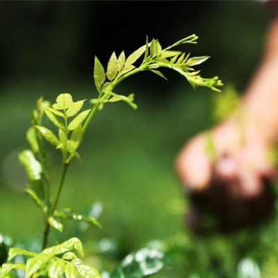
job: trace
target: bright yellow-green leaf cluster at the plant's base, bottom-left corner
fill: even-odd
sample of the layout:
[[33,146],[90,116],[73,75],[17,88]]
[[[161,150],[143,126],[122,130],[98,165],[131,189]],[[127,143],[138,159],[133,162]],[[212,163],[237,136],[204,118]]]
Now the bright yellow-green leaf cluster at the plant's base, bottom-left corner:
[[[23,270],[26,278],[101,278],[97,269],[85,265],[76,252],[84,256],[83,246],[78,238],[70,238],[64,243],[44,249],[40,253],[10,248],[9,263],[2,265],[0,276],[8,278],[13,270]],[[16,256],[24,256],[28,259],[26,259],[26,263],[13,263]]]

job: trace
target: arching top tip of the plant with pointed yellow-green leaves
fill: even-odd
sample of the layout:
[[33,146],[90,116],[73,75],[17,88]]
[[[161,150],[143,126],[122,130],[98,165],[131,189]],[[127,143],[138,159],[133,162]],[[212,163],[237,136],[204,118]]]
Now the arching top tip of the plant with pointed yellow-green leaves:
[[[115,52],[111,55],[108,61],[106,72],[103,65],[101,65],[97,56],[95,57],[94,78],[95,85],[99,92],[98,99],[92,99],[92,104],[98,104],[98,108],[102,108],[106,102],[126,101],[133,108],[136,108],[136,104],[133,102],[133,94],[128,97],[124,95],[117,95],[113,89],[126,77],[143,71],[151,71],[154,74],[158,74],[163,79],[167,78],[161,71],[157,69],[159,67],[169,68],[184,76],[187,81],[193,86],[204,86],[211,90],[219,91],[218,86],[222,85],[222,82],[218,76],[213,78],[204,79],[199,75],[199,70],[195,70],[193,67],[204,63],[209,57],[199,56],[190,58],[190,54],[186,54],[182,51],[172,50],[181,44],[195,44],[197,43],[197,35],[190,35],[187,38],[183,38],[178,42],[162,49],[160,42],[153,39],[152,42],[146,40],[146,44],[134,51],[130,56],[126,58],[124,51],[120,56],[116,56]],[[144,54],[144,58],[140,65],[136,67],[136,61]]]

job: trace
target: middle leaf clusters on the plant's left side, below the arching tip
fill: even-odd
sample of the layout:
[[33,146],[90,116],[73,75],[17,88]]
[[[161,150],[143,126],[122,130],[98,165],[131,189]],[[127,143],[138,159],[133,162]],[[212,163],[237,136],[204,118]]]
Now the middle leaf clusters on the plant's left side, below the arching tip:
[[[31,149],[19,153],[19,161],[24,166],[28,179],[26,192],[44,212],[47,225],[50,224],[59,231],[63,231],[65,220],[79,220],[100,226],[95,218],[76,213],[72,208],[56,209],[60,190],[52,202],[47,156],[42,141],[44,138],[56,146],[56,149],[60,149],[65,169],[74,156],[79,157],[77,149],[83,139],[82,123],[90,113],[90,109],[80,112],[83,103],[84,100],[74,102],[72,96],[67,93],[58,95],[52,106],[49,101],[40,98],[32,114],[33,126],[28,129],[26,135]],[[42,125],[44,115],[58,128],[57,136]]]

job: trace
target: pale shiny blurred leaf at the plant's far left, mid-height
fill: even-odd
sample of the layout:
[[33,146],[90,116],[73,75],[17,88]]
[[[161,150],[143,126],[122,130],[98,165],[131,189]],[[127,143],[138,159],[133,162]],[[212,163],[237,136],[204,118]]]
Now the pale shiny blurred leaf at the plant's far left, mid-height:
[[24,166],[27,176],[32,181],[40,180],[42,174],[42,165],[37,161],[33,152],[29,149],[19,153],[19,161]]

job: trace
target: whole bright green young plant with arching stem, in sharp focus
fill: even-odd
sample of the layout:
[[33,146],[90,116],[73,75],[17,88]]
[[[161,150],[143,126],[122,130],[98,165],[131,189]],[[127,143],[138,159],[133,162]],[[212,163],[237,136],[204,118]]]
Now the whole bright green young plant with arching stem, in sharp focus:
[[[75,250],[81,254],[83,253],[82,245],[77,238],[71,238],[65,243],[47,248],[50,229],[63,231],[63,223],[66,220],[84,221],[100,227],[95,218],[77,213],[72,208],[58,208],[69,165],[73,158],[80,158],[78,151],[83,143],[85,131],[88,129],[95,113],[100,111],[104,104],[125,101],[132,108],[137,108],[133,94],[125,96],[115,92],[117,85],[133,74],[150,71],[167,80],[164,74],[158,70],[165,67],[184,76],[193,88],[203,86],[219,91],[218,87],[222,85],[222,82],[218,76],[205,79],[200,76],[199,70],[194,68],[196,65],[204,63],[208,56],[190,57],[190,54],[175,49],[182,44],[196,43],[197,35],[190,35],[163,49],[158,40],[153,39],[149,42],[147,39],[142,47],[127,57],[124,51],[119,56],[116,56],[113,52],[106,68],[96,56],[94,79],[98,95],[90,99],[92,106],[90,109],[82,110],[85,100],[74,101],[69,93],[58,95],[54,104],[45,101],[42,97],[38,99],[31,117],[32,126],[28,129],[26,135],[30,148],[20,152],[19,161],[26,170],[26,193],[31,196],[44,215],[42,252],[34,253],[11,248],[8,263],[2,266],[1,277],[8,277],[10,272],[15,269],[24,270],[26,277],[47,277],[47,275],[48,277],[61,277],[62,275],[76,277],[77,272],[79,272],[80,277],[100,277],[95,268],[87,268],[80,259],[77,259]],[[139,61],[140,58],[141,62]],[[45,118],[50,120],[54,130],[45,126]],[[45,142],[54,145],[57,151],[61,153],[62,165],[56,188],[53,187],[49,178]],[[56,189],[56,192],[53,193],[54,189]],[[144,251],[146,261],[152,258],[152,261],[157,261],[159,264],[159,267],[154,268],[154,270],[149,270],[149,268],[144,270],[142,266],[144,262],[139,263],[136,261],[137,255],[132,256],[131,261],[134,262],[134,265],[138,265],[136,268],[142,268],[139,271],[141,273],[140,277],[156,272],[155,269],[157,271],[161,269],[162,256],[159,253],[160,259],[158,256],[154,258],[154,254],[156,252],[152,252],[152,250]],[[26,258],[26,263],[15,263],[14,259],[19,255]],[[142,259],[142,256],[140,258]],[[125,273],[124,271],[127,271],[126,265],[129,264],[124,263],[122,268],[117,268],[113,277],[129,277],[129,275],[122,276]],[[147,264],[145,263],[145,265]]]

